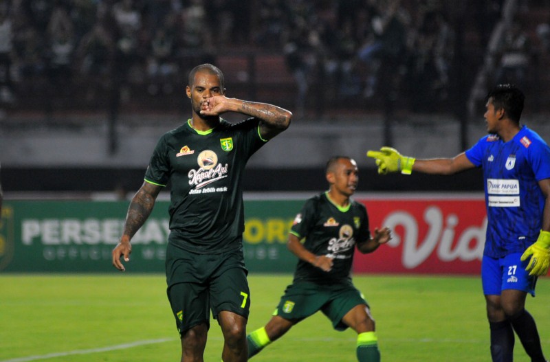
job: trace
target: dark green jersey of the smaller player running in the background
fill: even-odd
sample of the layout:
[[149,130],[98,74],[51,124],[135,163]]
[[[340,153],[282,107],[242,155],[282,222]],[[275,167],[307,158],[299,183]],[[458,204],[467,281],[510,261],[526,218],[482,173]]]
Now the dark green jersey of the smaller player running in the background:
[[350,200],[348,207],[342,209],[330,201],[326,192],[305,202],[290,232],[300,239],[305,238],[304,247],[311,253],[333,258],[329,272],[298,260],[294,281],[320,284],[351,279],[355,244],[371,238],[366,207]]

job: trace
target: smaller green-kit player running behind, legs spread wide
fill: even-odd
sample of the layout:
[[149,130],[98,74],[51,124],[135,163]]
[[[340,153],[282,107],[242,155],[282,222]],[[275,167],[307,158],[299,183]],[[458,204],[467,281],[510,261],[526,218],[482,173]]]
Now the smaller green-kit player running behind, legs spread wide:
[[288,248],[298,257],[294,280],[272,319],[248,335],[248,358],[321,310],[336,330],[358,333],[358,361],[380,362],[375,322],[350,273],[355,247],[371,253],[391,240],[391,232],[375,228],[371,235],[366,207],[350,199],[358,185],[353,159],[331,158],[326,173],[329,191],[305,202],[289,234]]

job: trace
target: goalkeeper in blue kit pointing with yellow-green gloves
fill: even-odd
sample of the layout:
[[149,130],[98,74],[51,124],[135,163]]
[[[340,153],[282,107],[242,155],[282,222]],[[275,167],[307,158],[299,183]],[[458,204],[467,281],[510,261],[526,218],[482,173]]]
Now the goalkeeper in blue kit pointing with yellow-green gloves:
[[382,147],[369,150],[378,173],[455,174],[483,168],[487,234],[481,280],[494,362],[512,361],[514,332],[533,362],[544,362],[535,320],[525,310],[550,264],[550,148],[520,125],[525,96],[510,84],[487,94],[489,135],[454,158],[415,159]]

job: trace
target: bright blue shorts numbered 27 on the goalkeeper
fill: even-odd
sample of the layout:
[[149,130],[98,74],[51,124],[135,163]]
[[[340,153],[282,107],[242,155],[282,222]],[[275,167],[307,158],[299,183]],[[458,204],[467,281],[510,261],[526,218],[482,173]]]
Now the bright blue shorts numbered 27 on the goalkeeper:
[[481,282],[483,294],[500,295],[505,289],[525,291],[535,296],[537,277],[525,270],[529,260],[520,260],[522,253],[513,253],[504,258],[495,259],[483,256],[481,263]]

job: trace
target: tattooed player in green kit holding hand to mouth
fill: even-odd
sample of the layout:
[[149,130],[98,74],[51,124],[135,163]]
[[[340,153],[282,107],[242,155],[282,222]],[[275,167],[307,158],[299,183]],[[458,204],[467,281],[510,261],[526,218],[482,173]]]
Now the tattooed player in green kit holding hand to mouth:
[[[181,361],[203,361],[210,310],[223,332],[225,362],[247,361],[250,291],[245,269],[241,177],[261,146],[287,129],[292,113],[278,106],[225,97],[223,73],[203,64],[189,73],[192,117],[157,143],[145,181],[130,203],[113,265],[124,271],[130,240],[170,181],[167,294],[181,336]],[[232,124],[226,112],[247,120]]]

